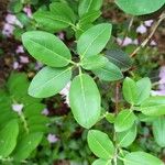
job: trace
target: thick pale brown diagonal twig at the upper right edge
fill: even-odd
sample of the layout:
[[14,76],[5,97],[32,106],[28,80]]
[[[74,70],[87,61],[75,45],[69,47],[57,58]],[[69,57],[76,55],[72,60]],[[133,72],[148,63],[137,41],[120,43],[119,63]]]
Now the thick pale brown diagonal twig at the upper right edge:
[[131,57],[135,56],[136,53],[143,48],[147,43],[148,41],[152,38],[152,36],[154,35],[155,31],[157,30],[158,25],[161,24],[161,22],[165,19],[165,13],[163,12],[161,15],[160,15],[160,19],[157,22],[154,23],[153,28],[152,28],[152,32],[151,34],[142,42],[142,44],[136,47],[133,53],[130,55]]

